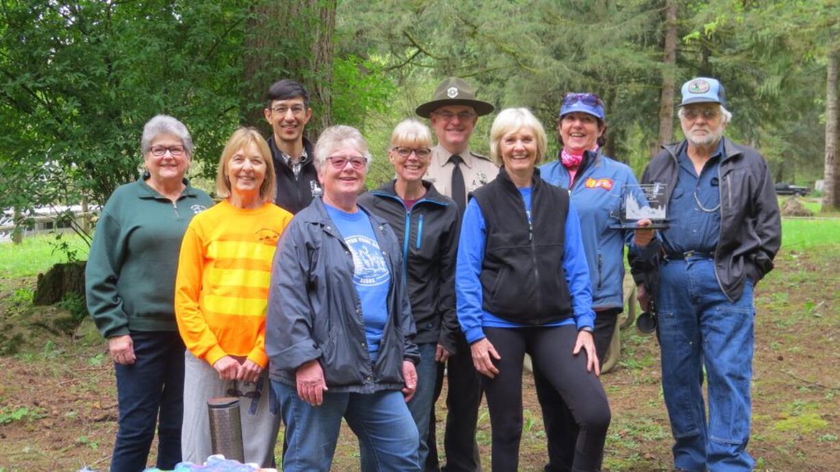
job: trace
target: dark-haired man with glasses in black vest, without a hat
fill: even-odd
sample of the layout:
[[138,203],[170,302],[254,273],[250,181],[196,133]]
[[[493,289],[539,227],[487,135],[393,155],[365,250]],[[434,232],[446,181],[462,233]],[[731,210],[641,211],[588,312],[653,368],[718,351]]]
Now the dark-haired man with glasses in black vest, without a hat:
[[265,95],[264,113],[271,125],[268,146],[277,174],[274,203],[294,215],[321,195],[318,172],[312,163],[312,143],[303,137],[312,119],[309,94],[294,80],[280,80]]

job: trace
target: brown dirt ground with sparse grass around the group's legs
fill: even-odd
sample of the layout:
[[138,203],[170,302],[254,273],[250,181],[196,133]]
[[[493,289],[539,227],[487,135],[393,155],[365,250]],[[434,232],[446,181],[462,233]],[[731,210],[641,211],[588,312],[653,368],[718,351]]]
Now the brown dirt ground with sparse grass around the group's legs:
[[[782,252],[776,270],[756,289],[749,451],[758,461],[757,470],[840,470],[837,262],[840,246],[819,254]],[[0,290],[0,331],[8,334],[36,314],[13,297],[15,287],[29,287],[33,281],[6,282]],[[0,472],[76,471],[85,465],[107,470],[117,429],[117,402],[104,343],[72,340],[32,325],[36,327],[29,333],[34,338],[29,348],[0,357]],[[637,335],[632,329],[623,332],[622,360],[602,380],[612,404],[605,470],[669,470],[671,436],[654,337]],[[524,391],[520,469],[536,471],[545,463],[546,448],[530,376]],[[438,442],[445,414],[441,400]],[[483,407],[478,441],[486,469],[490,438],[490,420]],[[333,470],[358,469],[354,438],[345,428]]]

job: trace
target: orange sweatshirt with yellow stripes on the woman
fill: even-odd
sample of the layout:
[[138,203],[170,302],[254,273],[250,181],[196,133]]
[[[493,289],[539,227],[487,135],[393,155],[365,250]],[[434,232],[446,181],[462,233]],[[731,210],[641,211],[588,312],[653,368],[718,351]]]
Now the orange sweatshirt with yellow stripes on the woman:
[[271,259],[291,217],[271,203],[245,210],[224,200],[192,219],[175,283],[178,330],[192,355],[211,366],[225,355],[268,365]]

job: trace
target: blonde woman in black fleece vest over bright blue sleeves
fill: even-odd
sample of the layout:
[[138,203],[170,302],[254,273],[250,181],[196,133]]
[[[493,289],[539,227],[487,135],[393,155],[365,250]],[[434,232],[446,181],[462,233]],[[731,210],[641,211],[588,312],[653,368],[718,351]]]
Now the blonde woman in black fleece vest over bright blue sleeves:
[[502,111],[491,128],[501,172],[473,193],[461,227],[458,318],[483,375],[494,472],[518,469],[525,353],[580,427],[572,470],[601,469],[610,423],[580,222],[568,192],[535,169],[545,149],[545,131],[531,112]]

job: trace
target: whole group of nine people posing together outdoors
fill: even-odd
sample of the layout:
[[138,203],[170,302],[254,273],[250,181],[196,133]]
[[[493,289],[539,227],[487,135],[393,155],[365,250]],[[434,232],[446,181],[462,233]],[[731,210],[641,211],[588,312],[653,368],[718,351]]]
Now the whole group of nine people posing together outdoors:
[[485,396],[491,468],[515,471],[528,354],[545,470],[601,470],[601,358],[627,254],[640,303],[659,314],[675,469],[751,470],[753,286],[773,267],[779,210],[764,158],[722,137],[732,115],[720,82],[690,80],[682,96],[685,140],[642,179],[667,184],[669,226],[656,231],[615,225],[638,182],[602,153],[593,93],[564,94],[558,160],[540,165],[549,140],[526,108],[496,115],[490,158],[470,150],[494,106],[450,77],[417,107],[431,130],[413,118],[394,128],[395,179],[365,192],[365,137],[339,125],[310,143],[307,91],[281,80],[266,96],[268,140],[251,128],[228,139],[215,205],[184,178],[186,127],[152,118],[144,175],[102,209],[87,263],[88,309],[117,377],[111,469],[144,469],[155,428],[160,469],[201,463],[207,399],[234,396],[245,460],[263,467],[282,423],[283,470],[329,470],[344,420],[365,472],[478,471]]

